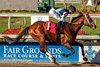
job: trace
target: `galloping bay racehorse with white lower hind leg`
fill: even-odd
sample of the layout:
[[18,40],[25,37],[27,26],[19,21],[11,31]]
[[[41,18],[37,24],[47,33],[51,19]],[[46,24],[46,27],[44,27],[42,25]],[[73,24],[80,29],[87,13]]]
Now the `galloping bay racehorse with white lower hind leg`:
[[[78,31],[81,29],[83,25],[93,29],[96,28],[96,25],[90,18],[89,13],[79,13],[77,17],[74,17],[72,19],[71,23],[63,24],[62,26],[63,34],[60,34],[60,41],[65,48],[71,51],[71,53],[65,54],[61,52],[61,55],[65,57],[73,55],[75,53],[75,50],[72,48],[72,45],[77,45],[81,47],[83,60],[84,61],[88,60],[84,54],[84,46],[75,40]],[[4,38],[8,43],[11,44],[14,42],[18,42],[23,35],[27,34],[31,35],[32,38],[37,40],[37,42],[40,44],[40,51],[45,53],[51,62],[56,63],[56,59],[53,57],[52,54],[48,52],[46,45],[46,41],[56,42],[56,34],[50,33],[46,30],[46,22],[44,21],[37,21],[34,24],[26,27],[21,33],[18,34],[18,36],[15,39],[12,39],[8,36],[4,36]]]

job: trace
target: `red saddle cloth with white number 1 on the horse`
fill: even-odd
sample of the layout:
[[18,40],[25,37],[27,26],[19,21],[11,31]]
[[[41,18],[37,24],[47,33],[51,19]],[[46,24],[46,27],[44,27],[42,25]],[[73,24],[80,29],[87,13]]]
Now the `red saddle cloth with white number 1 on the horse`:
[[[46,30],[56,34],[56,24],[54,22],[51,21],[46,21]],[[60,28],[60,31],[62,30],[62,28]]]

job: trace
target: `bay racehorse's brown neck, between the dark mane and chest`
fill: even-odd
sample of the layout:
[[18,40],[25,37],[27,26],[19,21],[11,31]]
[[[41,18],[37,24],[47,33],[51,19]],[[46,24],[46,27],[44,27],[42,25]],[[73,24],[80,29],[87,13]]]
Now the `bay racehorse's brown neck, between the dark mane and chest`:
[[73,21],[71,23],[71,28],[73,29],[73,31],[77,34],[77,32],[81,29],[81,27],[83,26],[82,22],[84,17],[80,17],[77,19],[77,21]]

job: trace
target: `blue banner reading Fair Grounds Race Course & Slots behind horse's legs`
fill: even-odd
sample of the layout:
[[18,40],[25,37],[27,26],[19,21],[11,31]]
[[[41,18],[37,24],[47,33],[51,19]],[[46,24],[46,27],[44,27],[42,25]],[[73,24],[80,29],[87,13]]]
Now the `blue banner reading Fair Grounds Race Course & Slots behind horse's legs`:
[[[73,46],[75,54],[64,57],[60,53],[68,54],[70,51],[62,45],[47,43],[48,51],[56,58],[57,62],[78,62],[78,47]],[[18,42],[14,44],[0,43],[0,61],[31,61],[31,62],[50,62],[47,56],[40,52],[37,42]]]

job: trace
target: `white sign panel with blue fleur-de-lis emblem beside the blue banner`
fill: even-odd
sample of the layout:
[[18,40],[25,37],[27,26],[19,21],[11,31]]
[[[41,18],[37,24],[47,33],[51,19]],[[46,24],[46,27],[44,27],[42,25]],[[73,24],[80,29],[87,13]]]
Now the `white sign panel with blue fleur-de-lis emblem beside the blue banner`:
[[[100,43],[85,43],[84,53],[91,62],[95,55],[100,51]],[[84,62],[82,58],[81,48],[79,48],[79,62]]]

